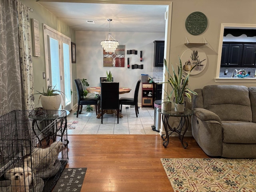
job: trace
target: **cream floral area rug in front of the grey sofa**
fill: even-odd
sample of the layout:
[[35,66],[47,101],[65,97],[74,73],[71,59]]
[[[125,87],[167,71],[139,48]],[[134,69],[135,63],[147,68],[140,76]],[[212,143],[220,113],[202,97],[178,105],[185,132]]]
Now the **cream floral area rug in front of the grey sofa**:
[[256,159],[161,158],[174,192],[255,192]]

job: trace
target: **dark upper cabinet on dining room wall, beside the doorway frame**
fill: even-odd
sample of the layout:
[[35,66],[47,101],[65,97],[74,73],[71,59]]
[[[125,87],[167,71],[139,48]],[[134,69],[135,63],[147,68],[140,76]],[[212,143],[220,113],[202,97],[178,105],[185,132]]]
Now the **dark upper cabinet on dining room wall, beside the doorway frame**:
[[154,66],[164,66],[164,41],[154,41]]

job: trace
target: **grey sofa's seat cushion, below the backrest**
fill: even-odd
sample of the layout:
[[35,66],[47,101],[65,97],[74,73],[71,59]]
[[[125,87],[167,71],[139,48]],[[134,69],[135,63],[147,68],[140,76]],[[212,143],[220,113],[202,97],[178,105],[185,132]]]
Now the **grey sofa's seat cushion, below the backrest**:
[[224,143],[256,143],[256,124],[242,121],[222,121]]

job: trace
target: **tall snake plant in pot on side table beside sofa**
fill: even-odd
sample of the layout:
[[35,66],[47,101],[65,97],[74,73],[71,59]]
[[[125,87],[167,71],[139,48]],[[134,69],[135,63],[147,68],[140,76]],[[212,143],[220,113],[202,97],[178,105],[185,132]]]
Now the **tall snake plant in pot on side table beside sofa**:
[[[179,57],[179,62],[180,62],[180,64],[179,65],[177,64],[178,73],[176,74],[176,72],[174,70],[174,67],[172,66],[172,73],[173,74],[170,74],[170,72],[168,70],[168,67],[167,67],[166,60],[164,59],[164,66],[165,66],[166,71],[168,72],[168,74],[170,76],[170,78],[168,79],[168,82],[164,82],[164,83],[170,84],[170,86],[172,86],[172,89],[173,89],[170,92],[170,94],[167,94],[168,100],[165,100],[164,102],[172,102],[172,103],[174,103],[175,111],[184,112],[184,96],[187,96],[189,98],[189,100],[191,101],[191,96],[190,96],[189,92],[194,94],[194,95],[197,95],[196,92],[190,90],[187,87],[190,72],[196,67],[196,65],[193,66],[190,69],[190,71],[188,72],[188,74],[185,76],[185,75],[182,74],[182,62],[180,60],[180,57]],[[174,101],[171,101],[170,98],[171,98],[173,92],[174,92],[174,95],[175,95],[175,99],[174,99]]]

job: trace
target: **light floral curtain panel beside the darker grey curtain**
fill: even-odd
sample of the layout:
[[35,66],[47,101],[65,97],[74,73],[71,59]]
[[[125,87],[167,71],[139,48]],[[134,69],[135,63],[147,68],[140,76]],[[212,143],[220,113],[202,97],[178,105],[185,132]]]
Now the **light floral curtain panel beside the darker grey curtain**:
[[20,73],[22,84],[22,109],[34,108],[34,78],[32,66],[32,42],[30,35],[30,22],[28,7],[22,2],[17,2],[19,22],[19,48],[20,48]]

